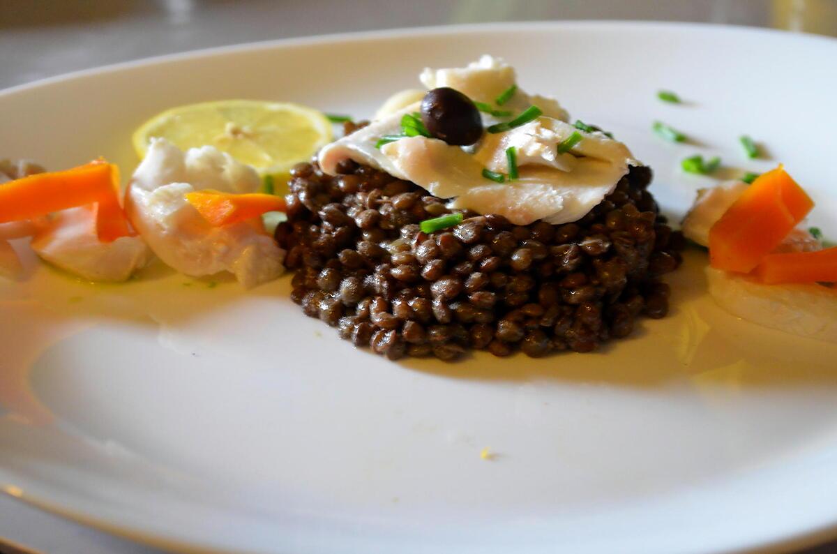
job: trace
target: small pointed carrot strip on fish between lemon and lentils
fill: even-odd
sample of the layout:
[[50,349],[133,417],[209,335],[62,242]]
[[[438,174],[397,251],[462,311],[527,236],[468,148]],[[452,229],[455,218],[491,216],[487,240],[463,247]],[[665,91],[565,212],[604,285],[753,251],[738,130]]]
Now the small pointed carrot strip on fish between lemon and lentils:
[[285,198],[273,194],[229,194],[218,191],[187,192],[186,201],[213,227],[239,223],[267,212],[284,212]]

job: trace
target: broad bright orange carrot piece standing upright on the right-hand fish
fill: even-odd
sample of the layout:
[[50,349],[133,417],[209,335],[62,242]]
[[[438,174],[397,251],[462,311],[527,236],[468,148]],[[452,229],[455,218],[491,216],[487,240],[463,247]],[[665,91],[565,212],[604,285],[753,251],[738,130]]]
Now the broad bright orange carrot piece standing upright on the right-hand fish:
[[709,230],[712,267],[749,273],[814,208],[782,166],[763,173]]

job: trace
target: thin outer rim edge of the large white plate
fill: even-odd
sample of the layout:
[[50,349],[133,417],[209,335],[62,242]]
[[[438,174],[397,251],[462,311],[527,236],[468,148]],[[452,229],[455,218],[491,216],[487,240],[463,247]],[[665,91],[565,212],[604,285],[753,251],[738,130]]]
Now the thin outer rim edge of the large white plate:
[[[211,48],[191,49],[172,54],[162,54],[141,59],[134,59],[125,62],[118,62],[115,64],[105,64],[88,69],[80,69],[76,71],[67,72],[64,74],[57,74],[45,77],[39,80],[33,80],[28,83],[13,85],[6,89],[0,90],[0,101],[5,100],[9,96],[26,94],[32,90],[46,88],[51,85],[63,84],[74,80],[85,80],[95,78],[100,75],[117,73],[125,70],[135,68],[151,67],[158,64],[170,64],[188,60],[207,59],[218,56],[225,56],[229,54],[247,54],[250,52],[258,52],[270,49],[285,49],[294,47],[306,47],[313,45],[330,45],[340,44],[351,41],[387,41],[394,38],[416,38],[426,35],[457,35],[461,33],[483,33],[491,30],[501,30],[503,32],[525,33],[527,31],[548,31],[560,28],[617,28],[627,29],[634,28],[638,30],[677,30],[677,31],[696,31],[696,32],[712,32],[712,33],[735,33],[735,34],[761,34],[771,39],[793,40],[794,42],[813,42],[823,45],[829,45],[829,48],[837,47],[837,38],[817,35],[813,33],[798,33],[790,32],[781,29],[760,28],[745,25],[731,25],[722,23],[694,23],[694,22],[665,22],[665,21],[625,21],[612,19],[584,19],[584,20],[561,20],[561,21],[521,21],[521,22],[506,22],[506,23],[454,23],[448,25],[432,25],[420,27],[407,28],[388,28],[377,29],[370,31],[357,31],[350,33],[327,33],[319,35],[311,35],[306,37],[294,38],[274,38],[269,40],[253,41],[242,44],[229,44]],[[8,475],[8,470],[0,468],[0,476]],[[45,510],[49,513],[61,516],[70,521],[74,521],[84,526],[90,526],[100,531],[105,531],[112,535],[121,536],[132,541],[141,541],[151,546],[161,548],[177,548],[184,551],[193,551],[193,549],[200,549],[200,551],[217,551],[213,550],[212,546],[201,544],[198,541],[182,541],[175,536],[157,535],[150,531],[141,529],[134,529],[131,527],[123,527],[107,521],[104,517],[97,517],[90,513],[85,513],[82,510],[74,510],[70,506],[60,505],[51,502],[50,500],[26,491],[15,490],[10,483],[0,482],[0,491],[4,495],[11,496],[13,499],[23,501],[29,505],[37,507],[39,510]],[[793,535],[788,535],[781,539],[762,539],[760,541],[746,540],[747,537],[742,537],[742,540],[736,544],[731,544],[724,552],[750,552],[750,551],[768,551],[778,552],[785,551],[788,548],[805,548],[814,546],[824,541],[828,541],[837,537],[837,514],[833,519],[827,523],[810,526],[807,529],[798,531]]]

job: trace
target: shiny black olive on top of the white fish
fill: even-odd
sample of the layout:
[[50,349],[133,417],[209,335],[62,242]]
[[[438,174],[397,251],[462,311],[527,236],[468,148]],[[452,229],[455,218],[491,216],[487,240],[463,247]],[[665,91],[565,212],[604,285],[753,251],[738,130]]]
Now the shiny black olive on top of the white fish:
[[459,90],[446,86],[424,95],[421,121],[431,136],[454,146],[474,144],[482,136],[480,110]]

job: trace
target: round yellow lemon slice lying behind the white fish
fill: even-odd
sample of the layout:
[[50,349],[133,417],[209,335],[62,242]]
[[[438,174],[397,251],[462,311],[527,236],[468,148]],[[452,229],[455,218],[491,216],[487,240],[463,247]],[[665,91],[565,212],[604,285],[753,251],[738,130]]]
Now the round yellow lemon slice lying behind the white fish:
[[284,176],[332,140],[331,121],[312,108],[289,102],[218,100],[182,105],[146,121],[134,132],[137,156],[152,137],[182,150],[215,146],[262,175]]

